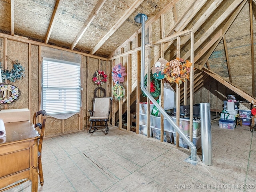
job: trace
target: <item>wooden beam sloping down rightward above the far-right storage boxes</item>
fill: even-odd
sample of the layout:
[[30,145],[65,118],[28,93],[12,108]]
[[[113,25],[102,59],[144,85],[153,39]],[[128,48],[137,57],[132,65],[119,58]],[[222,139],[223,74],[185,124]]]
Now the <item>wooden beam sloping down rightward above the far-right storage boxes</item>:
[[233,90],[236,94],[240,95],[242,98],[246,99],[248,102],[250,102],[250,103],[254,102],[255,103],[256,99],[254,97],[252,97],[249,94],[245,93],[244,91],[240,90],[239,88],[237,88],[236,86],[234,86],[230,82],[227,82],[226,80],[224,80],[218,74],[214,73],[211,70],[208,70],[206,67],[203,67],[202,71],[204,71],[209,76],[213,77],[215,80],[217,80],[218,82],[220,82],[221,84],[223,84],[224,86],[229,88],[230,90]]

